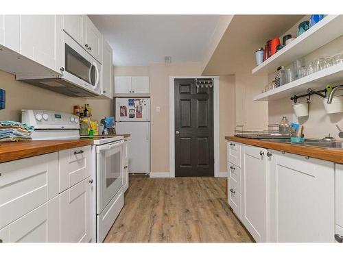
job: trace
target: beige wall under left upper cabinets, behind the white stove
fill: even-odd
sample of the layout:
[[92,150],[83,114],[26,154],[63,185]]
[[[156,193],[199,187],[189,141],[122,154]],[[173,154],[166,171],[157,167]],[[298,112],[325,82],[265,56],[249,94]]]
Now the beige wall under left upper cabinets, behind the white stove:
[[6,108],[0,110],[0,120],[21,121],[21,109],[73,112],[74,105],[89,103],[93,118],[110,115],[110,100],[73,98],[15,80],[14,75],[0,71],[0,88],[6,90]]

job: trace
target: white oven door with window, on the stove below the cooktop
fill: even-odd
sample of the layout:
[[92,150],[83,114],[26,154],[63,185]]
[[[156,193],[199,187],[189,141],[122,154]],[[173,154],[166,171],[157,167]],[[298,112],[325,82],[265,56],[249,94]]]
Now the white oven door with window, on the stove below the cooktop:
[[97,214],[123,186],[123,143],[119,140],[97,146]]

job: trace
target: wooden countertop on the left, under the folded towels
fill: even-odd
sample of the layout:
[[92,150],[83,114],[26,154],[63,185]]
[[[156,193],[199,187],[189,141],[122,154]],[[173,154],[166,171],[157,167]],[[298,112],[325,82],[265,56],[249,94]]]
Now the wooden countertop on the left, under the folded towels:
[[[130,134],[117,134],[115,136],[123,136],[128,138]],[[95,137],[95,136],[94,136]],[[92,145],[93,140],[75,139],[75,140],[32,140],[22,142],[3,142],[0,143],[0,163],[9,162],[41,154],[49,154],[54,151],[62,151],[65,149],[84,147]]]

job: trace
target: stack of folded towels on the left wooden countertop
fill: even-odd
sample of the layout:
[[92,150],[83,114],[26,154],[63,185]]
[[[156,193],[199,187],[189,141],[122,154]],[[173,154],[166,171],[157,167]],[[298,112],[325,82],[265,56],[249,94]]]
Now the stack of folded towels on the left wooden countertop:
[[0,121],[0,142],[32,140],[34,127],[16,121]]

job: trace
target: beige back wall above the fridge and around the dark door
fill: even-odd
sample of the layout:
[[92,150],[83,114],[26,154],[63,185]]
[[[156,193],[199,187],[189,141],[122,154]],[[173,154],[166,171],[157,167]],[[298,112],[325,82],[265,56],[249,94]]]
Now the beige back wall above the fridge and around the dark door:
[[[115,76],[149,75],[151,96],[151,172],[169,172],[169,76],[201,75],[199,62],[155,63],[150,66],[115,66]],[[224,136],[235,123],[234,77],[220,78],[220,171],[226,171]],[[227,98],[226,98],[227,96]],[[156,108],[159,107],[158,112]]]

